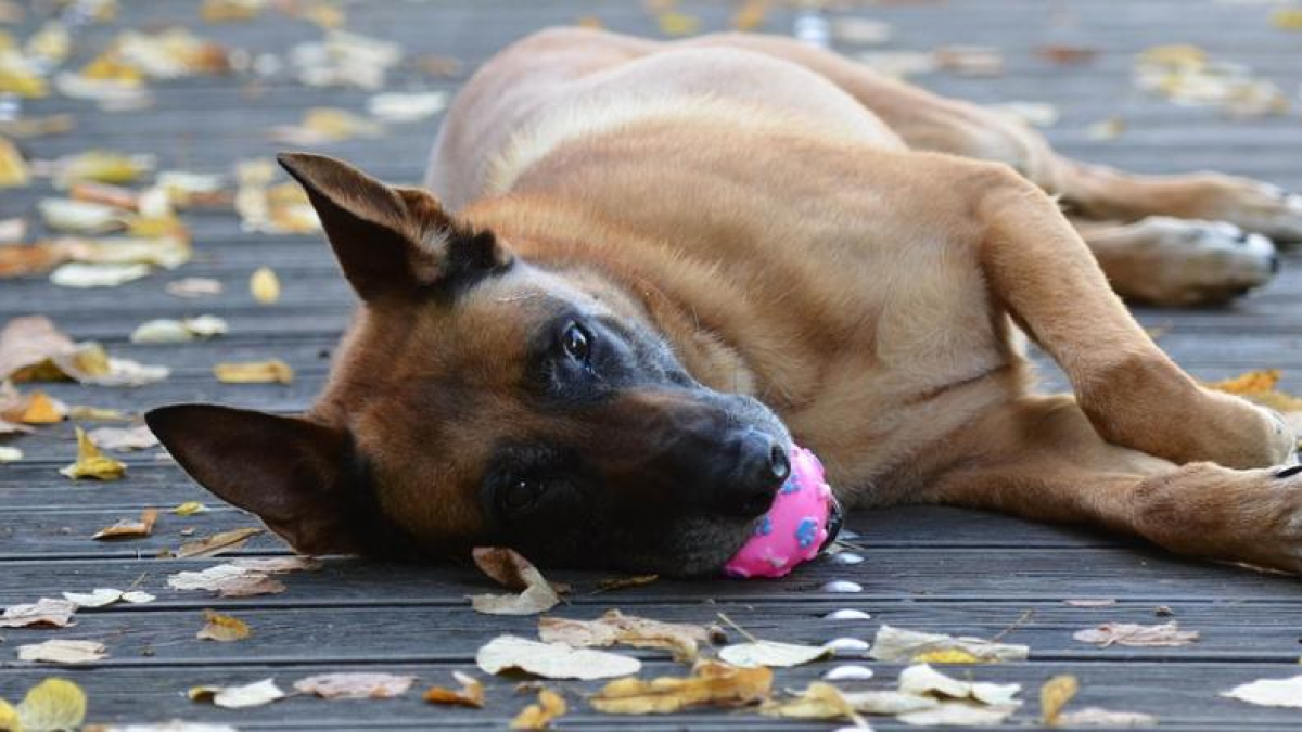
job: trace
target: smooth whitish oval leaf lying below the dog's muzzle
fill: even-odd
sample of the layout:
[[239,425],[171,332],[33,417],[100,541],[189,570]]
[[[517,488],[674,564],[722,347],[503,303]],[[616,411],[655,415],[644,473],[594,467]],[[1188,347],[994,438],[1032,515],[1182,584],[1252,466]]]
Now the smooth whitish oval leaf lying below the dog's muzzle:
[[517,636],[499,636],[479,649],[475,663],[484,673],[519,669],[544,679],[609,679],[628,676],[642,668],[642,662],[626,655],[564,643],[539,643]]

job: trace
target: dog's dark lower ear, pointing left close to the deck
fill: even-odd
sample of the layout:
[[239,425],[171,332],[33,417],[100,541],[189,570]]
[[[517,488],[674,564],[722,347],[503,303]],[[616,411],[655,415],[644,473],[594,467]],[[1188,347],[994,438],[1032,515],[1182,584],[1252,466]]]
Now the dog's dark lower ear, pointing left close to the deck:
[[178,404],[145,415],[195,481],[303,554],[357,554],[362,490],[344,430],[299,417]]

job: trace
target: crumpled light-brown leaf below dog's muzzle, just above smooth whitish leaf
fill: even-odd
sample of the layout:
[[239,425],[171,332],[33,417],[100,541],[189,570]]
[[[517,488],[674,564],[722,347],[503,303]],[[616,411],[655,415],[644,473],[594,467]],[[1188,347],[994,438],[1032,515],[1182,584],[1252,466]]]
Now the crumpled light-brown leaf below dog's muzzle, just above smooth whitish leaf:
[[538,637],[544,643],[565,643],[575,649],[615,643],[665,649],[674,660],[693,662],[697,660],[698,645],[710,642],[711,630],[703,625],[660,623],[611,610],[596,620],[540,617]]

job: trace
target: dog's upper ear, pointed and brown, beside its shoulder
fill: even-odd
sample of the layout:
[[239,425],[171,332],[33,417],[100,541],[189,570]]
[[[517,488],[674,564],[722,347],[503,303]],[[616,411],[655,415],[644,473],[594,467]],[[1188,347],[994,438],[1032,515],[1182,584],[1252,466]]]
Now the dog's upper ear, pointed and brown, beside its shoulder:
[[344,276],[365,301],[456,285],[504,270],[512,255],[427,191],[391,188],[352,165],[307,152],[276,156],[307,191]]

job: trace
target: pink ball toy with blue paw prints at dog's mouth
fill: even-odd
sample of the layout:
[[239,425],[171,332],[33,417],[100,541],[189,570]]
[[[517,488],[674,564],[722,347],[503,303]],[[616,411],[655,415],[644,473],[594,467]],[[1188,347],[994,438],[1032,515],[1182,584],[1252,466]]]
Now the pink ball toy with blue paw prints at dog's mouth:
[[729,576],[783,577],[797,564],[818,556],[831,529],[829,517],[840,521],[818,457],[792,445],[790,460],[792,474],[777,491],[773,505],[755,522],[741,551],[724,565]]

